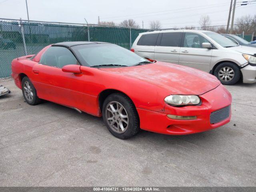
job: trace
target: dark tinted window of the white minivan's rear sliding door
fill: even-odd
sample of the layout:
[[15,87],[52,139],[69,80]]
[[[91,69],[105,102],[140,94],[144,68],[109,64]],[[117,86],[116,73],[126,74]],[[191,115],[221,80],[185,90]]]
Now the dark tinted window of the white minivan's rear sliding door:
[[181,32],[163,33],[160,46],[180,47],[181,37]]

